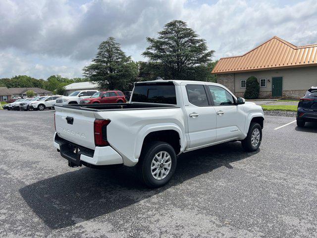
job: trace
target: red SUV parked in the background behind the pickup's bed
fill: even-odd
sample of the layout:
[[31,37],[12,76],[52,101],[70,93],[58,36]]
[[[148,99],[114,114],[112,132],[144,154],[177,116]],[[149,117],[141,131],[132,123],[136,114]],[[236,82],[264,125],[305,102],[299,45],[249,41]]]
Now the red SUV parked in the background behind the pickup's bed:
[[81,104],[90,103],[126,103],[124,94],[121,91],[97,92],[90,98],[79,101]]

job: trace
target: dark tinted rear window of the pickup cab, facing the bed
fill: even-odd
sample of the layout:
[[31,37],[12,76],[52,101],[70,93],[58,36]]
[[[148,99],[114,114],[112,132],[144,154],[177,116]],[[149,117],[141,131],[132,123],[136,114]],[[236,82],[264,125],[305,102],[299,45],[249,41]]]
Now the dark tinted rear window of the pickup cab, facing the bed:
[[136,84],[132,94],[132,102],[177,104],[175,85],[163,84]]

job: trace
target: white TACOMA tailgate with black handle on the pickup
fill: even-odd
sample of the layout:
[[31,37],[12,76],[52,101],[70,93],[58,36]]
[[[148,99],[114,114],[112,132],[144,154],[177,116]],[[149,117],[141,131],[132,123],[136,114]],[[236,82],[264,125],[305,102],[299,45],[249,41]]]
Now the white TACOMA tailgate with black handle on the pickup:
[[95,149],[94,112],[55,107],[58,136],[89,149]]

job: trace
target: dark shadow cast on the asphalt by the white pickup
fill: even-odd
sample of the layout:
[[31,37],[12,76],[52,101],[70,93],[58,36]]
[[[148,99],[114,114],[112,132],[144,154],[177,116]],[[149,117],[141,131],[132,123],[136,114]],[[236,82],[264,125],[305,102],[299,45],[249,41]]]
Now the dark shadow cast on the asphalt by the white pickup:
[[232,169],[230,163],[258,152],[244,152],[241,143],[234,142],[184,153],[178,158],[171,181],[157,189],[140,183],[134,168],[96,170],[82,167],[27,185],[19,191],[50,229],[60,229],[135,204],[219,167]]

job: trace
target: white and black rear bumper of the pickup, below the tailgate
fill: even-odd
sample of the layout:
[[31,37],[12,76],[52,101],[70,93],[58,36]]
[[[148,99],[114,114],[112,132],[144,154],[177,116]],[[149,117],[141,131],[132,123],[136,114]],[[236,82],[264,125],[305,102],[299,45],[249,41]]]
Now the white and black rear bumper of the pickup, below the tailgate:
[[[65,139],[58,137],[57,133],[54,134],[54,147],[60,151],[60,155],[73,163],[75,166],[103,166],[103,165],[118,165],[123,164],[122,157],[110,146],[96,147],[95,150],[76,145]],[[80,151],[75,154],[74,148]]]

